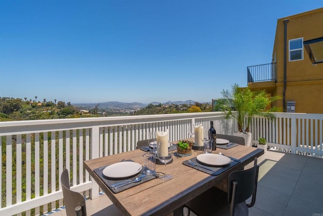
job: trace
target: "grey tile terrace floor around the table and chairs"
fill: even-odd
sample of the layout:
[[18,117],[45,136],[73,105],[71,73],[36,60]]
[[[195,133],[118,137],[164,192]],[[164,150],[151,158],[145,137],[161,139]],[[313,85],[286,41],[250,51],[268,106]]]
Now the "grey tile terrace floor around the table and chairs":
[[[323,216],[322,158],[267,151],[258,158],[258,164],[257,196],[255,205],[249,209],[250,216]],[[252,163],[246,168],[250,166]],[[109,210],[109,215],[120,215],[104,194],[88,200],[87,208],[89,213],[103,209]],[[63,209],[51,215],[66,213]]]

